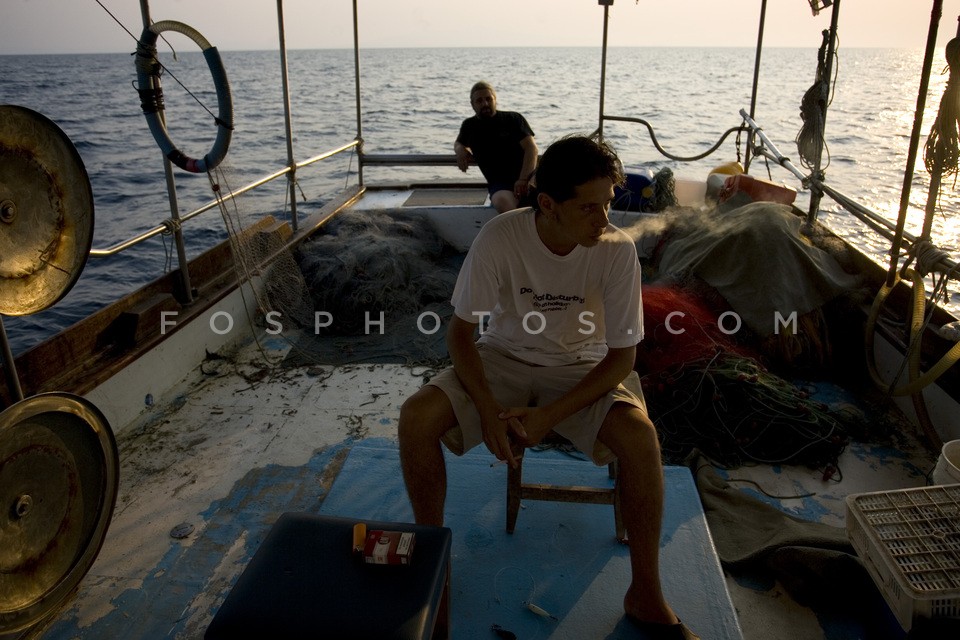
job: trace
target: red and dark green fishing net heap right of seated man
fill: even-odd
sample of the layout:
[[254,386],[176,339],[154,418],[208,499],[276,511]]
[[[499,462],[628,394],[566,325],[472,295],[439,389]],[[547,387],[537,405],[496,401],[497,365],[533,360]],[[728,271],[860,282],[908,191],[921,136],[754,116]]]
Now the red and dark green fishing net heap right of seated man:
[[697,448],[728,467],[821,467],[863,432],[861,414],[818,402],[724,333],[722,306],[711,308],[702,295],[675,285],[646,287],[643,297],[637,370],[668,461],[679,464]]

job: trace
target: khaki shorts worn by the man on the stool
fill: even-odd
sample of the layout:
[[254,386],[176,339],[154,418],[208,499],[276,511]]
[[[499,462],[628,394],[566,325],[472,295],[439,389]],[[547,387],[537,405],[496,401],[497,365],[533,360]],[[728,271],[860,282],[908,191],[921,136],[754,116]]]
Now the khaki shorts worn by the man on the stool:
[[[544,406],[566,394],[587,375],[595,362],[559,367],[543,367],[516,360],[501,351],[478,345],[484,373],[490,390],[503,407]],[[441,440],[451,452],[460,456],[483,442],[480,414],[467,394],[453,367],[441,371],[427,384],[441,389],[453,405],[459,426],[447,431]],[[553,430],[572,442],[577,449],[589,453],[594,463],[609,464],[614,455],[597,433],[616,402],[625,402],[647,413],[640,389],[640,377],[631,371],[626,379],[592,405],[584,407]]]

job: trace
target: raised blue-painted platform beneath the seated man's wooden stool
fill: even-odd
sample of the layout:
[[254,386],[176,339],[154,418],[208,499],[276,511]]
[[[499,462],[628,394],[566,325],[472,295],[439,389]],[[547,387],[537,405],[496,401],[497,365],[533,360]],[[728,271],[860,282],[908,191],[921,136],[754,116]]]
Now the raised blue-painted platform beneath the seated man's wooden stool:
[[[453,530],[452,636],[493,637],[492,624],[518,638],[642,638],[623,617],[630,582],[627,547],[614,536],[607,505],[525,503],[514,534],[504,530],[506,470],[487,453],[448,456],[446,526]],[[529,481],[603,486],[606,468],[556,452],[524,458]],[[677,614],[704,639],[740,638],[723,572],[690,471],[667,467],[661,573]],[[394,446],[354,446],[321,513],[411,521]],[[557,620],[528,610],[532,602]]]

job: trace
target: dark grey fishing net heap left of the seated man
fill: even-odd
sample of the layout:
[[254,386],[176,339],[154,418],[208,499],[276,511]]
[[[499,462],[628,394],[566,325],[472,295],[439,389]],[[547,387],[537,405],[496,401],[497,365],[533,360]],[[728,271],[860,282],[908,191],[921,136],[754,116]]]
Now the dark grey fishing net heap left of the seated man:
[[301,350],[328,363],[438,363],[463,256],[426,219],[339,214],[297,251],[312,314]]

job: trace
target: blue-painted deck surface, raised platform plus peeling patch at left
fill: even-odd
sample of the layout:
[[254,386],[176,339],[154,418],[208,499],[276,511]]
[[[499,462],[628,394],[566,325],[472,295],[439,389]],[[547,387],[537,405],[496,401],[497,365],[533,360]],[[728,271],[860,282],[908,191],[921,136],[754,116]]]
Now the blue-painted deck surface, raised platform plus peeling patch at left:
[[[324,496],[318,488],[343,456]],[[491,468],[492,459],[472,452],[448,461],[454,637],[488,639],[490,626],[499,624],[524,640],[642,638],[623,618],[629,556],[615,539],[612,508],[529,502],[509,535],[504,530],[506,471]],[[609,482],[606,468],[556,452],[530,453],[524,469],[534,481]],[[690,472],[668,467],[665,475],[661,571],[667,597],[703,638],[741,638]],[[208,506],[201,514],[205,525],[193,536],[169,539],[166,553],[139,579],[98,565],[82,590],[100,594],[99,602],[74,603],[43,637],[200,637],[283,511],[411,521],[395,442],[347,440],[315,453],[304,465],[252,469]],[[557,619],[535,615],[526,602]]]

